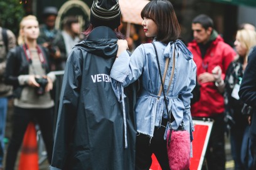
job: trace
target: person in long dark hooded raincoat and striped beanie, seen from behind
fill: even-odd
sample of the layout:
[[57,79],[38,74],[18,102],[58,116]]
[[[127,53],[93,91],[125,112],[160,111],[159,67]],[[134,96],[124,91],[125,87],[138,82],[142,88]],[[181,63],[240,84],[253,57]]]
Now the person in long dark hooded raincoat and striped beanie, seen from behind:
[[67,59],[50,169],[134,169],[136,86],[124,90],[123,107],[109,76],[123,36],[118,1],[93,1],[90,17]]

